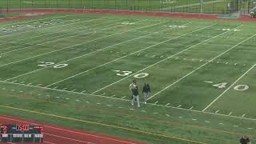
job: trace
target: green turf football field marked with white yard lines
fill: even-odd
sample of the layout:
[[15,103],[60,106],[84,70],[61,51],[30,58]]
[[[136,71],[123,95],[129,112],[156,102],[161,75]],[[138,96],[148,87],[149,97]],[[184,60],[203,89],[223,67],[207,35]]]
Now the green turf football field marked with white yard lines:
[[[0,114],[148,143],[256,138],[252,22],[50,14],[0,27]],[[141,108],[134,79],[141,100],[152,88]]]

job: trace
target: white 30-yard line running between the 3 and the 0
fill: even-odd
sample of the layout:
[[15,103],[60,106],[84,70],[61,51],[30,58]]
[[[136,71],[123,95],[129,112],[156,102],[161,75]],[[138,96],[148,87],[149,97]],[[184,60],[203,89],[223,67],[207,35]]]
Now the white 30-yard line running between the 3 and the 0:
[[[241,26],[242,26],[242,25],[241,25]],[[207,27],[209,27],[209,26],[207,26]],[[235,27],[234,29],[236,29],[236,28],[238,28],[238,27],[240,27],[240,26],[237,26],[237,27]],[[230,31],[231,31],[231,30],[230,30]],[[215,35],[214,37],[208,38],[208,39],[206,39],[205,41],[199,42],[198,44],[195,44],[194,46],[198,46],[198,45],[200,45],[200,44],[202,44],[202,43],[204,43],[204,42],[208,42],[208,41],[210,41],[211,39],[217,38],[218,36],[221,36],[221,35],[223,35],[223,34],[226,34],[226,33],[230,32],[230,31],[226,31],[226,32],[224,32],[224,33],[222,33],[222,34]],[[168,41],[168,40],[167,40],[167,41]],[[162,42],[162,43],[163,43],[163,42]],[[190,50],[190,49],[193,48],[194,46],[190,46],[189,48],[186,48],[185,50],[179,51],[178,53],[173,54],[173,55],[171,55],[171,56],[168,57],[168,58],[165,58],[165,59],[162,59],[161,61],[155,62],[154,64],[152,64],[152,65],[150,65],[150,66],[147,66],[146,68],[144,68],[144,69],[142,69],[142,70],[138,70],[138,71],[137,71],[136,73],[134,73],[134,74],[130,74],[129,76],[127,76],[127,77],[125,77],[125,78],[122,78],[122,79],[120,79],[120,80],[118,80],[118,81],[116,81],[116,82],[113,82],[113,83],[111,83],[111,84],[108,85],[108,86],[104,86],[104,87],[102,87],[101,89],[94,91],[92,94],[95,94],[95,93],[97,93],[97,92],[100,91],[100,90],[104,90],[104,89],[106,89],[106,88],[109,87],[109,86],[112,86],[112,85],[114,85],[114,84],[116,84],[116,83],[118,83],[118,82],[121,82],[122,80],[124,80],[124,79],[126,79],[126,78],[130,78],[130,77],[134,76],[135,74],[138,74],[138,73],[142,72],[143,70],[146,70],[146,69],[148,69],[148,68],[150,68],[150,67],[152,67],[152,66],[158,65],[159,63],[164,62],[164,61],[166,61],[166,60],[168,60],[168,59],[170,59],[170,58],[173,58],[174,56],[176,56],[176,55],[178,55],[178,54],[181,54],[181,53],[183,53],[183,52],[186,51],[186,50]],[[166,88],[166,89],[167,89],[167,88]],[[166,90],[166,89],[165,89],[165,90]],[[162,91],[163,91],[163,90],[162,90]],[[162,91],[158,92],[157,94],[161,93]],[[156,94],[154,94],[154,95],[151,96],[150,98],[153,98],[155,95],[156,95]],[[150,98],[149,98],[149,99],[150,99]]]

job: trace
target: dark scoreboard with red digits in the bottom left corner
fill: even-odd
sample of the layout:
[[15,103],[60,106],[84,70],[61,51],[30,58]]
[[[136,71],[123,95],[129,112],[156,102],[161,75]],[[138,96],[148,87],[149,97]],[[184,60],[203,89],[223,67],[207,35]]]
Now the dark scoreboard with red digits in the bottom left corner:
[[43,126],[0,125],[0,142],[43,142]]

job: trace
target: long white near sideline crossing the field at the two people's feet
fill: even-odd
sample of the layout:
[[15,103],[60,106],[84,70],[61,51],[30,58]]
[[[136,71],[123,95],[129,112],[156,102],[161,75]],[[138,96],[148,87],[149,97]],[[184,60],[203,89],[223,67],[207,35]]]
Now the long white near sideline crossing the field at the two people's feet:
[[[8,83],[8,84],[13,84],[13,85],[18,85],[18,86],[27,86],[27,87],[32,87],[32,88],[39,88],[39,89],[42,89],[42,90],[55,90],[55,91],[60,91],[60,92],[63,92],[63,93],[66,92],[66,93],[70,93],[70,94],[81,94],[81,95],[85,95],[85,96],[95,96],[95,97],[100,97],[100,98],[109,98],[109,99],[115,99],[115,100],[130,102],[130,99],[113,98],[113,97],[102,96],[102,95],[97,95],[97,94],[85,94],[85,93],[82,93],[82,92],[72,92],[72,91],[68,91],[68,90],[51,89],[51,88],[48,88],[48,87],[31,86],[31,85],[20,84],[20,83],[13,83],[13,82],[5,82],[5,81],[0,81],[0,82]],[[233,115],[215,114],[215,113],[201,111],[201,110],[190,110],[190,109],[178,108],[178,107],[174,107],[174,106],[163,106],[163,105],[154,104],[154,103],[147,103],[147,104],[148,105],[152,105],[152,106],[161,106],[161,107],[177,109],[177,110],[192,111],[192,112],[197,112],[197,113],[201,113],[201,114],[219,115],[219,116],[224,116],[224,117],[229,117],[229,118],[239,118],[239,119],[246,119],[246,120],[256,121],[256,118],[242,118],[242,117],[237,117],[237,116],[233,116]]]

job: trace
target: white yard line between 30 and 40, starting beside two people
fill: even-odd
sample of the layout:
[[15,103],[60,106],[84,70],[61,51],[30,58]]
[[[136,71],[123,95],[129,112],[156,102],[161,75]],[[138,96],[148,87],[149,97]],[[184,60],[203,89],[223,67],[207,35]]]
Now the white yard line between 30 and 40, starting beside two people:
[[[256,35],[256,34],[254,34],[253,36],[250,36],[250,38],[254,38],[255,35]],[[170,84],[169,86],[166,86],[164,89],[158,91],[158,93],[152,95],[150,98],[148,98],[148,100],[151,99],[151,98],[154,98],[154,96],[156,96],[156,95],[162,93],[162,91],[167,90],[170,86],[174,86],[174,84],[176,84],[177,82],[180,82],[182,79],[186,78],[186,77],[189,76],[190,74],[193,74],[195,71],[201,69],[203,66],[206,66],[208,63],[213,62],[216,58],[222,56],[223,54],[226,54],[226,52],[228,52],[228,51],[234,49],[236,46],[239,46],[239,45],[242,44],[243,42],[246,42],[246,41],[249,40],[250,38],[246,38],[246,39],[243,40],[242,42],[239,42],[239,43],[236,44],[235,46],[232,46],[230,49],[224,51],[222,54],[219,54],[217,57],[212,58],[210,61],[204,63],[202,66],[199,66],[197,69],[191,71],[189,74],[186,74],[186,75],[183,76],[182,78],[178,79],[176,82],[174,82],[174,83]]]

